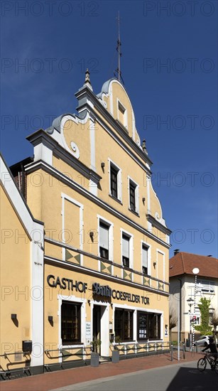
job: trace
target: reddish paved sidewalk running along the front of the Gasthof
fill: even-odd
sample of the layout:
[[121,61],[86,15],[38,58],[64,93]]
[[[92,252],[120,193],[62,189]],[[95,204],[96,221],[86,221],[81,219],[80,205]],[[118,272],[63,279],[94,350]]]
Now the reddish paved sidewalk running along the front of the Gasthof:
[[[180,358],[180,363],[196,361],[201,357],[200,353],[185,353],[185,360]],[[49,391],[55,388],[65,387],[79,382],[87,382],[103,377],[116,376],[124,373],[136,372],[166,365],[178,364],[177,352],[173,354],[173,362],[168,355],[151,355],[141,358],[121,360],[117,364],[104,363],[99,367],[80,367],[67,370],[58,370],[53,373],[23,377],[17,380],[5,380],[0,383],[1,391]]]

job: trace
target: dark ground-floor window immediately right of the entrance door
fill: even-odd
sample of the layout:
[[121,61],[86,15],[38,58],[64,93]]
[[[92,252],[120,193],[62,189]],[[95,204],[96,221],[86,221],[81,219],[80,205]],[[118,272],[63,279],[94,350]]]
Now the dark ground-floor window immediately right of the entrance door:
[[115,341],[133,341],[133,311],[115,310]]

